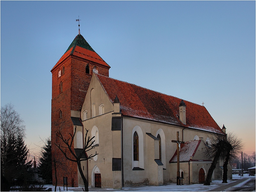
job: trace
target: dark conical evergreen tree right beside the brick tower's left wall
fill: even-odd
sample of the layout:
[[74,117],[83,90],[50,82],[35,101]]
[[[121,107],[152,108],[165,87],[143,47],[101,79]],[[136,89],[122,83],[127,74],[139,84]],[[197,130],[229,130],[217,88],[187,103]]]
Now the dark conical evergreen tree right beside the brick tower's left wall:
[[38,172],[39,177],[46,180],[47,183],[52,181],[52,143],[51,138],[45,140],[45,145],[41,149],[39,158]]

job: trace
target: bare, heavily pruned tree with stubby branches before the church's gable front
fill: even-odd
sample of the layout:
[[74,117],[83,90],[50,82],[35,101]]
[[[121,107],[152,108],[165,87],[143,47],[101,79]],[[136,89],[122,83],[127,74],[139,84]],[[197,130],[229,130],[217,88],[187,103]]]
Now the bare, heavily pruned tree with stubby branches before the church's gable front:
[[[73,142],[74,142],[74,137],[76,135],[76,127],[75,127],[75,131],[74,131],[73,135],[71,133],[69,133],[70,137],[68,139],[63,138],[60,131],[59,131],[59,134],[56,133],[56,136],[59,137],[64,142],[65,146],[60,146],[60,144],[56,144],[56,143],[55,143],[55,145],[60,149],[60,151],[64,154],[64,156],[66,157],[67,160],[77,163],[79,173],[80,173],[80,175],[81,175],[81,177],[84,181],[84,189],[85,189],[85,191],[89,191],[88,181],[86,180],[86,178],[84,176],[84,173],[83,173],[83,170],[82,170],[82,167],[81,167],[81,161],[87,161],[88,159],[92,159],[94,156],[96,156],[98,154],[97,154],[97,151],[96,151],[96,153],[94,155],[92,155],[92,154],[89,155],[89,156],[86,155],[86,158],[82,158],[82,156],[84,154],[86,154],[86,152],[88,152],[88,151],[90,151],[91,149],[94,148],[93,143],[95,141],[95,140],[93,140],[94,137],[92,137],[90,139],[90,136],[88,136],[88,138],[87,138],[87,134],[88,134],[89,130],[87,130],[87,129],[85,129],[85,130],[86,130],[85,138],[84,138],[85,145],[84,145],[84,148],[81,149],[78,156],[76,155],[76,152],[74,151],[74,148],[72,148],[72,145],[73,145]],[[86,140],[86,138],[87,138],[87,140]]]

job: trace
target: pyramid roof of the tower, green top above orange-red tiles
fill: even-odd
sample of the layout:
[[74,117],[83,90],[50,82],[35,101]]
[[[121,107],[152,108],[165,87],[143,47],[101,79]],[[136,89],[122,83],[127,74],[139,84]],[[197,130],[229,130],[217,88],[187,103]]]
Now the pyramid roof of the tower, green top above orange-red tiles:
[[100,57],[100,55],[98,55],[92,49],[92,47],[87,43],[87,41],[81,34],[78,34],[75,37],[75,39],[69,45],[67,51],[62,55],[60,60],[56,63],[56,65],[53,68],[55,68],[63,60],[65,60],[69,55],[75,55],[77,57],[90,60],[110,68],[110,66]]

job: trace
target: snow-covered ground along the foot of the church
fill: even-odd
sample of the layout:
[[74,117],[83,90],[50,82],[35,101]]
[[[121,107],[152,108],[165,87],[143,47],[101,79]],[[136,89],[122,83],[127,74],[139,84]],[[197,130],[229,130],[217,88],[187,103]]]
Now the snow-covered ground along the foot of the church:
[[[240,179],[240,176],[232,175],[234,180],[228,180],[228,183],[234,182],[237,179]],[[244,174],[241,178],[255,178],[255,176],[249,176],[248,174]],[[245,180],[244,182],[238,184],[239,186],[242,186],[244,183],[246,183],[248,180]],[[163,186],[140,186],[140,187],[124,187],[122,189],[113,189],[113,188],[89,188],[89,191],[117,191],[117,192],[127,192],[127,191],[208,191],[213,188],[220,187],[222,185],[225,185],[225,183],[222,183],[222,180],[213,180],[210,186],[205,186],[204,184],[185,184],[185,185],[179,185],[177,186],[176,183],[170,183]],[[237,186],[238,186],[237,185]],[[54,191],[54,186],[52,185],[44,185],[44,187],[52,188],[52,191]],[[63,186],[58,186],[57,191],[63,191]],[[65,187],[65,191],[67,191],[67,187]],[[68,191],[83,191],[82,187],[72,188],[68,187]]]

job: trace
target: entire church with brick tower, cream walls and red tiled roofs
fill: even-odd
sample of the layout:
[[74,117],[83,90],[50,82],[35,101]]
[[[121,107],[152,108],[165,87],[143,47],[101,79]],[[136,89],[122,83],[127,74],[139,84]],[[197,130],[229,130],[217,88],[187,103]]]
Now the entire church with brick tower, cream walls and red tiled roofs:
[[[82,162],[89,186],[122,188],[176,183],[177,145],[180,141],[180,178],[183,184],[204,183],[212,159],[202,155],[209,135],[225,134],[204,106],[152,91],[108,76],[110,66],[79,33],[52,68],[52,160],[60,162],[58,185],[82,186],[77,164],[66,160],[55,146],[57,136],[70,138],[77,152],[84,146],[85,128],[95,136],[98,155]],[[89,154],[90,153],[90,154]],[[220,160],[212,180],[222,178]],[[228,165],[228,178],[232,178]],[[53,184],[55,170],[52,169]]]

